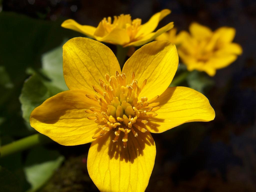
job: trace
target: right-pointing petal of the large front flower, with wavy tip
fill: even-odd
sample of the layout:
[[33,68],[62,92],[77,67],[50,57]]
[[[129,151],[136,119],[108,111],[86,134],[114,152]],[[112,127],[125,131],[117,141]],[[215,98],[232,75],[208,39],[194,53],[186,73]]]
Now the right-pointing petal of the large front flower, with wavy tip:
[[193,121],[211,121],[215,118],[208,99],[187,87],[169,87],[156,102],[161,108],[155,118],[148,120],[146,128],[152,133],[161,133],[180,124]]

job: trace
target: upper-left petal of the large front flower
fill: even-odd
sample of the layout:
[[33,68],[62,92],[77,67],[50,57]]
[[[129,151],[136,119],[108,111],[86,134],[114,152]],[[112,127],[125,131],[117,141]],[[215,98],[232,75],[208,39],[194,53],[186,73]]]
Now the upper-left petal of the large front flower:
[[105,74],[121,72],[110,48],[83,37],[70,39],[63,45],[63,74],[68,88],[91,91],[104,80]]

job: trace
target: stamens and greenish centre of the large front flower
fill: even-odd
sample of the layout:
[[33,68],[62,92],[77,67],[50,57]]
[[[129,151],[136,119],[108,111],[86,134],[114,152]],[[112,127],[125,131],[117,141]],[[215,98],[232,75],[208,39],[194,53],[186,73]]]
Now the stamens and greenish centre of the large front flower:
[[86,95],[89,99],[98,101],[101,106],[100,110],[94,107],[85,110],[85,112],[92,114],[88,119],[98,123],[100,129],[92,138],[101,137],[112,130],[115,134],[113,142],[118,141],[122,134],[123,146],[126,147],[130,132],[137,137],[138,133],[147,131],[145,124],[148,123],[149,118],[157,115],[156,111],[160,108],[159,102],[154,102],[159,96],[157,95],[151,100],[146,97],[141,97],[138,100],[138,95],[146,85],[147,80],[145,79],[141,86],[138,86],[134,72],[130,84],[126,83],[124,73],[116,72],[116,76],[105,74],[105,78],[108,83],[99,79],[100,89],[92,86],[101,97],[96,94],[94,96]]

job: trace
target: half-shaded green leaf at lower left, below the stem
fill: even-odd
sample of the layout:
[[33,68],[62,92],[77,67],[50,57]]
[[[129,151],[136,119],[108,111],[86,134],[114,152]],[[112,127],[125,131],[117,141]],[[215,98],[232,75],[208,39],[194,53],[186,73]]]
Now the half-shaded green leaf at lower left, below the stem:
[[24,172],[31,188],[26,192],[34,192],[44,185],[63,162],[64,157],[57,151],[49,151],[42,147],[30,151]]

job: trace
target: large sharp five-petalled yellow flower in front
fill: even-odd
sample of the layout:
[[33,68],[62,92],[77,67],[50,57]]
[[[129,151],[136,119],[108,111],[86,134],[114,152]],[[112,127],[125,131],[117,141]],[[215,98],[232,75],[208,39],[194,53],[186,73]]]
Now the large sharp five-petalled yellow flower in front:
[[144,191],[156,155],[151,133],[215,118],[201,93],[168,87],[177,67],[177,50],[169,41],[144,45],[121,72],[107,46],[70,39],[63,46],[70,90],[34,109],[30,124],[62,145],[92,142],[87,168],[100,191]]

